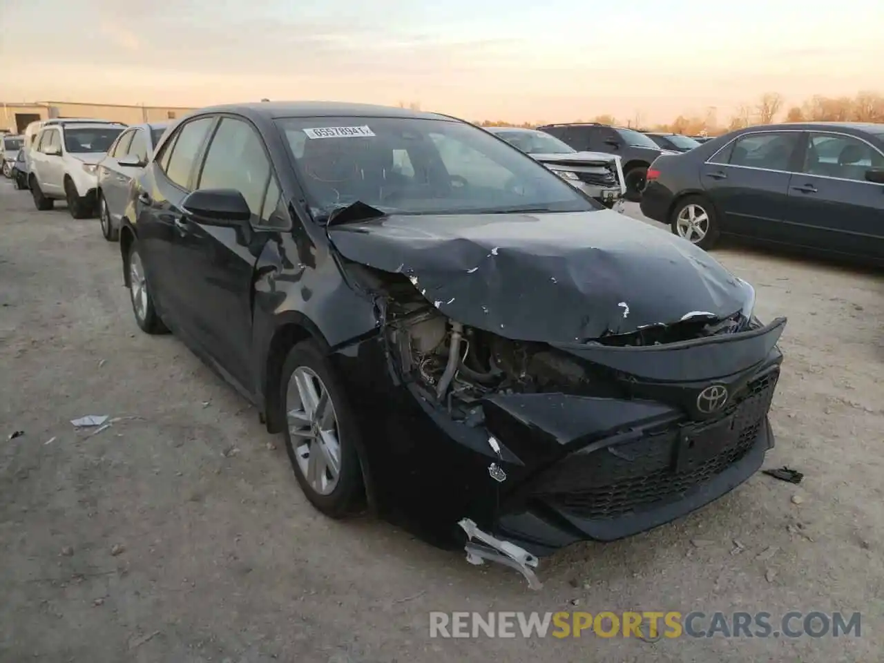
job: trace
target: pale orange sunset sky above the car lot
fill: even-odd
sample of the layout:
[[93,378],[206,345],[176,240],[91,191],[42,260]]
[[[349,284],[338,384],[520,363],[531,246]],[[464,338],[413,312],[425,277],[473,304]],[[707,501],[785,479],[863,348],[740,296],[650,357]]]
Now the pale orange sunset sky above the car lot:
[[884,2],[0,0],[0,102],[418,102],[664,122],[884,92]]

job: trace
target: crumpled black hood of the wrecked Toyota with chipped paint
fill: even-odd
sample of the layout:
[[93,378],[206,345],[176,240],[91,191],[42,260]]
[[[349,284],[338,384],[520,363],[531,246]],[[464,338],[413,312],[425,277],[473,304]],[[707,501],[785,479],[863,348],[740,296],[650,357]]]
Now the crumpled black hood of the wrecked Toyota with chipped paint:
[[509,339],[583,342],[729,316],[747,296],[702,249],[610,210],[393,215],[328,234],[347,259],[403,273],[446,316]]

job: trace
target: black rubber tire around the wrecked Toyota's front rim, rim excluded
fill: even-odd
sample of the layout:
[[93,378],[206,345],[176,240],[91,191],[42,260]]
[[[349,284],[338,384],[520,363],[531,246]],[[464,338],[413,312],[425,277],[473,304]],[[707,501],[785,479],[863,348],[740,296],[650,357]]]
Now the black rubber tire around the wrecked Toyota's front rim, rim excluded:
[[[310,484],[298,461],[298,451],[293,444],[289,421],[286,413],[290,410],[288,385],[297,369],[311,371],[322,382],[325,392],[331,400],[334,416],[337,419],[336,432],[340,448],[339,473],[337,484],[329,494],[317,492]],[[347,396],[340,385],[331,362],[312,340],[303,341],[294,346],[283,364],[279,382],[279,403],[283,408],[283,421],[286,422],[286,452],[292,463],[294,476],[301,485],[301,491],[316,509],[330,518],[344,518],[357,513],[364,504],[365,488],[362,482],[362,466],[357,450],[360,427],[356,421],[354,410],[347,402]],[[311,452],[312,453],[312,452]]]

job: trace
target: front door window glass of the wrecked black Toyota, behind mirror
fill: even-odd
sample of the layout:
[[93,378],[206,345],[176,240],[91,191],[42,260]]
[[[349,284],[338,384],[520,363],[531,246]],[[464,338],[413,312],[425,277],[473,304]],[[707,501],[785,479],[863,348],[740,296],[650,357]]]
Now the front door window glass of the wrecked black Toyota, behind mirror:
[[240,119],[222,119],[202,164],[197,188],[236,189],[257,217],[270,176],[271,162],[255,129]]

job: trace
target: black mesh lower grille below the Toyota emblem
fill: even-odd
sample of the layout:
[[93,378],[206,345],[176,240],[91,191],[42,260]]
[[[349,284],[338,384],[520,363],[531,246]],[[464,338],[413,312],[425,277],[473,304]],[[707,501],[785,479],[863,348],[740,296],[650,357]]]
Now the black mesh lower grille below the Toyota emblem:
[[[533,492],[563,511],[591,519],[613,518],[677,499],[749,452],[764,424],[778,377],[772,371],[750,383],[707,435],[709,424],[670,428],[626,445],[573,453],[547,471]],[[693,444],[716,448],[711,457],[679,470],[677,453],[685,431]]]

